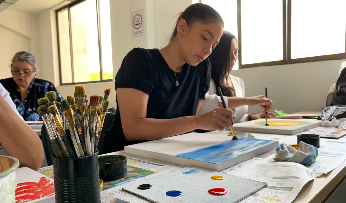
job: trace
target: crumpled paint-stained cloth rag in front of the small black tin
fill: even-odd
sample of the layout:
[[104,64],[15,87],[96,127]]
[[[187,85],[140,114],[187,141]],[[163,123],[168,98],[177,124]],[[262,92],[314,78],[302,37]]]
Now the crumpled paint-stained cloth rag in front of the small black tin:
[[315,162],[317,156],[318,151],[316,147],[300,141],[299,150],[286,144],[277,145],[274,160],[311,165]]

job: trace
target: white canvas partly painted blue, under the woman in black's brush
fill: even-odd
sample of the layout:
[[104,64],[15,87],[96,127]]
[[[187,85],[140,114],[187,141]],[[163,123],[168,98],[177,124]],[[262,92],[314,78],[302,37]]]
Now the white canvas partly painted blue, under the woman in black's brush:
[[[272,140],[244,137],[232,140],[232,138],[227,133],[225,135],[188,133],[125,146],[125,153],[221,171],[275,149],[279,144]],[[205,149],[208,149],[207,152]],[[198,153],[195,153],[196,151]],[[182,154],[194,157],[181,156]]]

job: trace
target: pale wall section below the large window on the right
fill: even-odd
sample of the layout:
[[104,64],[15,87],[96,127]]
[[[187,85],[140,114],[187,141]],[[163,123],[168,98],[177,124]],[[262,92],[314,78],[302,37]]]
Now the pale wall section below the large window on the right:
[[[344,60],[244,68],[232,71],[245,83],[246,96],[264,95],[274,101],[273,109],[285,113],[321,111],[326,107],[330,86],[338,79]],[[260,107],[249,107],[248,113],[261,113]]]

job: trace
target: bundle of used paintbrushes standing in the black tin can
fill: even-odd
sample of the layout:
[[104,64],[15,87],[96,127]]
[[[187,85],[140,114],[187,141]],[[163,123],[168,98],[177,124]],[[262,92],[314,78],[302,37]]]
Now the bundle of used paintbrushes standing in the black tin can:
[[[54,91],[37,100],[40,105],[37,112],[41,115],[51,140],[54,156],[82,157],[97,151],[104,118],[108,111],[110,88],[104,90],[104,96],[85,95],[84,86],[75,86],[74,97],[67,96],[56,101]],[[62,115],[60,117],[60,108]]]

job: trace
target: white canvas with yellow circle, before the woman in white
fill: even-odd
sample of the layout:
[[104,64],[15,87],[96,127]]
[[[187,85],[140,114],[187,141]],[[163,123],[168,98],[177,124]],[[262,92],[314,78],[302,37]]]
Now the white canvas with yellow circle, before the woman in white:
[[[321,120],[316,119],[270,119],[268,122],[308,122],[311,124],[307,125],[297,125],[297,126],[259,126],[255,123],[265,122],[265,118],[258,120],[250,120],[247,122],[236,123],[233,125],[235,131],[249,132],[249,133],[271,133],[271,134],[281,134],[281,135],[294,135],[307,131],[313,127],[320,125]],[[270,123],[269,123],[270,124]]]

